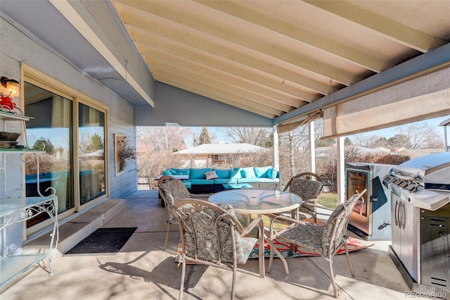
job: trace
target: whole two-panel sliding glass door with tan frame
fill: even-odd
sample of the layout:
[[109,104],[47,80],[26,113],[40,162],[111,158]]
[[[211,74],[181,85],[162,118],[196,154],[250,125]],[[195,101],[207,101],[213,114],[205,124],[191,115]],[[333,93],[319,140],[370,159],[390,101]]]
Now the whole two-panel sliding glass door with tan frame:
[[[93,99],[82,100],[77,94],[59,90],[58,85],[44,88],[30,81],[24,82],[23,111],[31,117],[26,123],[26,143],[45,153],[27,155],[25,194],[47,195],[49,187],[55,189],[61,220],[106,196],[106,110]],[[46,219],[38,215],[29,220],[28,233],[46,227]]]

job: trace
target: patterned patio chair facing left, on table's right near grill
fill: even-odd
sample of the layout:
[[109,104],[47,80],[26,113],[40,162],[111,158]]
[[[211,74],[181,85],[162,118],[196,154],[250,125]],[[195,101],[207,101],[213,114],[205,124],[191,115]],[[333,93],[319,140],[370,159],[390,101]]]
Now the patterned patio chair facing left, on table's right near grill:
[[[281,258],[285,268],[285,273],[289,274],[288,264],[285,258],[279,253],[274,246],[275,239],[283,239],[285,242],[295,244],[297,246],[304,246],[308,249],[316,251],[323,258],[328,261],[328,267],[330,268],[330,278],[333,285],[334,296],[338,298],[338,288],[335,284],[335,277],[333,274],[333,257],[338,250],[345,246],[345,254],[349,263],[350,272],[354,277],[354,270],[352,263],[350,262],[349,251],[347,247],[347,225],[349,222],[350,213],[352,213],[353,207],[361,196],[364,195],[366,189],[363,192],[354,194],[349,200],[342,204],[339,204],[331,213],[328,221],[325,225],[316,225],[313,223],[305,223],[301,220],[285,217],[284,215],[278,215],[271,221],[270,225],[270,258],[269,258],[269,273],[274,259],[274,252]],[[281,220],[283,223],[290,223],[288,227],[278,232],[274,232],[274,223]]]

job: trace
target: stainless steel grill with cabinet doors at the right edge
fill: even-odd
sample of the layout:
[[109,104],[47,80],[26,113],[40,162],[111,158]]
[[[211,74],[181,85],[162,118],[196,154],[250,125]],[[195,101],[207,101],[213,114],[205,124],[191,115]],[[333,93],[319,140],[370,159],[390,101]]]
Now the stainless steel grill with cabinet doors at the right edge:
[[402,163],[383,185],[391,192],[392,260],[412,290],[450,299],[450,153]]

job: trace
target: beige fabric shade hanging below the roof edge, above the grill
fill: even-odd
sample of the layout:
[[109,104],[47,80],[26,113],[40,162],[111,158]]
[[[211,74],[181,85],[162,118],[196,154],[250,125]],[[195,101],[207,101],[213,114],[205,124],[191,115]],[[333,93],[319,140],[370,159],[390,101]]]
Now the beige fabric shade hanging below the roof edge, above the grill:
[[450,114],[450,66],[342,102],[323,111],[323,138]]

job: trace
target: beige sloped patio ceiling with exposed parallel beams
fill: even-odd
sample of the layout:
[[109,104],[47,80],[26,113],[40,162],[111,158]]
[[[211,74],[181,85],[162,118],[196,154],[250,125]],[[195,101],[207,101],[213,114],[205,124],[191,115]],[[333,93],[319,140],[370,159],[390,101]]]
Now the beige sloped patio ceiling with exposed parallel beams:
[[450,41],[450,1],[130,1],[155,80],[274,119]]

